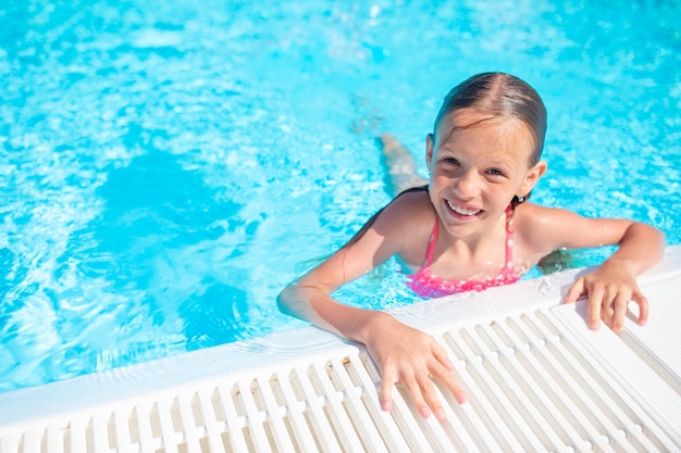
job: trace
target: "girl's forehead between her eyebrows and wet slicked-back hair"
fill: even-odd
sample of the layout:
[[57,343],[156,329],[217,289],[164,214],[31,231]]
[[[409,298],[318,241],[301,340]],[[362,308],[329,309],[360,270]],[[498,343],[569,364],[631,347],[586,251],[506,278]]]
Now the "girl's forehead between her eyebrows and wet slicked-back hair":
[[534,137],[520,119],[494,116],[472,109],[460,109],[444,116],[437,124],[435,146],[474,144],[499,154],[516,154],[530,160]]

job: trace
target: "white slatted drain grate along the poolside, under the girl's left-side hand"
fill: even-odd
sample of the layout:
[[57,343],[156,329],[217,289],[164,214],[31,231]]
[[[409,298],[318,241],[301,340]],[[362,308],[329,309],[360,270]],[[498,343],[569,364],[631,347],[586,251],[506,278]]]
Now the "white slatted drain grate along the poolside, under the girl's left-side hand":
[[100,406],[7,435],[0,453],[681,450],[677,432],[584,354],[559,309],[436,335],[469,399],[459,405],[444,395],[444,423],[421,418],[401,391],[393,412],[382,412],[376,369],[358,351]]

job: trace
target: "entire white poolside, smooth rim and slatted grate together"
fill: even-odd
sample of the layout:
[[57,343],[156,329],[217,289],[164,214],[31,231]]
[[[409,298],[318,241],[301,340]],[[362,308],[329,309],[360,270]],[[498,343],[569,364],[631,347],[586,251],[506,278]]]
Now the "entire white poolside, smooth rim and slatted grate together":
[[620,336],[560,304],[577,272],[394,312],[466,388],[441,392],[443,423],[399,386],[381,411],[366,352],[308,328],[0,394],[0,453],[681,452],[681,247],[642,280],[648,325]]

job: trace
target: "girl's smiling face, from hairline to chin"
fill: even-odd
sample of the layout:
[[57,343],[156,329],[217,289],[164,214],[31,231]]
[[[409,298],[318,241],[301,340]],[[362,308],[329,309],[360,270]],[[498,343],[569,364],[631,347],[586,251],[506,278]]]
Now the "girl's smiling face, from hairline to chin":
[[546,164],[530,164],[534,140],[518,119],[460,109],[442,118],[426,143],[430,196],[454,236],[494,228],[513,196],[527,196]]

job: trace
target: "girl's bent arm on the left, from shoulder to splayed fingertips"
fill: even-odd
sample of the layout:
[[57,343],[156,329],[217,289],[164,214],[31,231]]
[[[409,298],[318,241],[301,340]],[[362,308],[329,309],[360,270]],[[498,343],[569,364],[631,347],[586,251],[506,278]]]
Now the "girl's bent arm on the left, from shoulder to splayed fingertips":
[[[404,239],[407,234],[422,236],[420,226],[410,222],[420,217],[413,213],[414,209],[420,209],[419,198],[423,198],[423,193],[398,198],[377,215],[375,223],[357,241],[346,244],[286,287],[278,297],[278,305],[284,313],[363,343],[381,372],[383,410],[391,410],[393,385],[401,382],[424,417],[432,412],[442,419],[444,411],[431,376],[443,382],[458,401],[465,401],[445,350],[432,337],[399,323],[387,313],[348,306],[329,295],[389,256],[403,254],[410,243],[420,242]],[[428,237],[422,241],[423,247]]]

